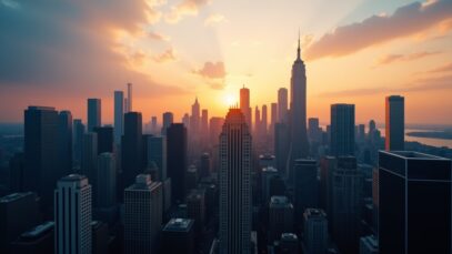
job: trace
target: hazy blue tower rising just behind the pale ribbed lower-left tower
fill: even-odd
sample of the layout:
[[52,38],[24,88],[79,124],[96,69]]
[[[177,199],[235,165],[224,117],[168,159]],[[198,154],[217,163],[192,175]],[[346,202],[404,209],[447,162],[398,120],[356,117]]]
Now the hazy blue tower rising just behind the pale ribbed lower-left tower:
[[84,133],[82,143],[80,172],[97,185],[98,134],[96,132]]

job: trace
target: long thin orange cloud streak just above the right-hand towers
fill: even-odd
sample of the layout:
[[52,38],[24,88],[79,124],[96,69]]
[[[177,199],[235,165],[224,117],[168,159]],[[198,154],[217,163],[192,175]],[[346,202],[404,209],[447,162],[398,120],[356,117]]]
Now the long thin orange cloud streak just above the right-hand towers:
[[418,79],[410,84],[350,89],[318,94],[322,98],[373,96],[375,94],[452,90],[452,75]]

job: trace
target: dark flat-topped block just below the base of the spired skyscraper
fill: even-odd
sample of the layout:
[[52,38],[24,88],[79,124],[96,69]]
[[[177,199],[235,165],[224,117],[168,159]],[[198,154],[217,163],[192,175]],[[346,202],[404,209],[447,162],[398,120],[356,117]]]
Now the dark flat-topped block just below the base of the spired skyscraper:
[[318,207],[319,184],[317,180],[315,160],[295,160],[293,169],[295,217],[300,224],[304,210]]

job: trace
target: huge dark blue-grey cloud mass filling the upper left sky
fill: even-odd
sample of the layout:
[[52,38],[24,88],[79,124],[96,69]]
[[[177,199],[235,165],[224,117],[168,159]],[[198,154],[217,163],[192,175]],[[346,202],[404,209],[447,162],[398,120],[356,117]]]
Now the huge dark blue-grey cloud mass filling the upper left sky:
[[129,81],[143,87],[142,95],[178,90],[134,69],[148,57],[122,40],[145,35],[149,13],[155,10],[145,0],[23,1],[17,10],[0,4],[0,100],[9,87],[63,96],[110,94]]

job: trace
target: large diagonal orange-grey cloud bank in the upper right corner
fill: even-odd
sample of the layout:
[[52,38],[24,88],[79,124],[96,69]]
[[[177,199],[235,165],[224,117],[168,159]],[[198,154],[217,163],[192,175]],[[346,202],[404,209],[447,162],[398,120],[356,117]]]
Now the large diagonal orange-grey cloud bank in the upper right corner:
[[372,16],[362,22],[337,28],[311,44],[309,60],[342,57],[391,40],[419,34],[432,27],[451,29],[452,1],[413,2],[395,10],[392,16]]

